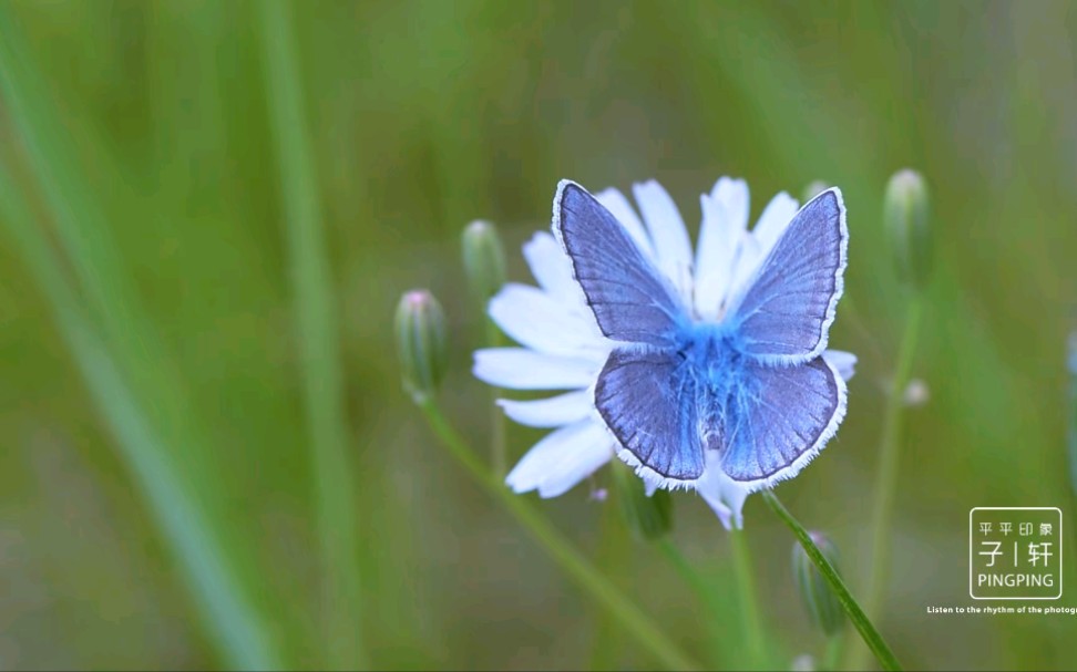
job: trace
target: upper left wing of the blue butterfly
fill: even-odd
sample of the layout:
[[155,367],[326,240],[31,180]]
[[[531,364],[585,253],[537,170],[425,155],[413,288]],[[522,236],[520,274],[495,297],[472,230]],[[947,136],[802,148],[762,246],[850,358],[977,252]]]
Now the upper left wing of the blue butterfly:
[[554,230],[602,332],[615,341],[668,345],[687,312],[609,210],[579,185],[563,180],[554,199]]

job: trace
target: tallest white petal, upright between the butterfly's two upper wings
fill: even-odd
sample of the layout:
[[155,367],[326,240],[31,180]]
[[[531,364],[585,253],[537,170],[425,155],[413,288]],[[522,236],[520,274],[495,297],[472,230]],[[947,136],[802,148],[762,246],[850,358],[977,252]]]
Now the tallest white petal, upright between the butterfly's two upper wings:
[[696,314],[715,319],[729,291],[734,260],[748,227],[748,185],[742,179],[719,178],[699,201],[702,225],[696,248]]

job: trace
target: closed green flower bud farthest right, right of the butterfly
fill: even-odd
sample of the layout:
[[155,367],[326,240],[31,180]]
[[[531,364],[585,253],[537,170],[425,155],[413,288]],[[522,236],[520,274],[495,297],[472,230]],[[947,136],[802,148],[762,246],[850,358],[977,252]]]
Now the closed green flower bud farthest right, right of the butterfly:
[[883,219],[898,275],[915,289],[923,289],[931,275],[931,230],[927,227],[927,185],[915,170],[894,173],[886,185]]

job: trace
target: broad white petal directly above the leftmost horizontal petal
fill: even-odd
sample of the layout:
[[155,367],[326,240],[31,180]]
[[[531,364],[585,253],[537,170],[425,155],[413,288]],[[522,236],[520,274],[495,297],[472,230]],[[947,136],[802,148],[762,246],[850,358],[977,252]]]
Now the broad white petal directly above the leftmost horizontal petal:
[[594,320],[565,302],[527,285],[510,282],[490,300],[490,317],[521,345],[538,352],[592,356],[601,364],[608,354]]

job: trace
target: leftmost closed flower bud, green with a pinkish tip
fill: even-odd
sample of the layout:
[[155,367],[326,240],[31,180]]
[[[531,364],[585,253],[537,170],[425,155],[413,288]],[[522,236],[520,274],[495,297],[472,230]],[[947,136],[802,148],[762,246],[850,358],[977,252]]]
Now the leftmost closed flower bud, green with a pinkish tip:
[[397,306],[397,351],[404,387],[416,403],[433,395],[449,363],[445,313],[424,289],[406,292]]

